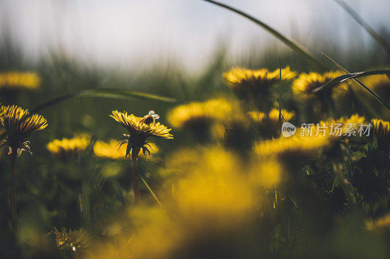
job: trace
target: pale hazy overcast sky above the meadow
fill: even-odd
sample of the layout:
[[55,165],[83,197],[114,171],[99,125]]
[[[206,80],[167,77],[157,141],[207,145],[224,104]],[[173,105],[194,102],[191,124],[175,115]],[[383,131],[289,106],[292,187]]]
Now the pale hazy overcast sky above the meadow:
[[[370,37],[333,0],[221,0],[310,44],[318,35],[346,45]],[[375,29],[390,29],[390,0],[346,0]],[[0,28],[29,56],[61,48],[80,59],[119,66],[174,58],[187,67],[217,44],[232,55],[277,42],[257,25],[202,0],[0,0]],[[258,45],[257,45],[258,43]],[[311,47],[312,48],[312,47]]]

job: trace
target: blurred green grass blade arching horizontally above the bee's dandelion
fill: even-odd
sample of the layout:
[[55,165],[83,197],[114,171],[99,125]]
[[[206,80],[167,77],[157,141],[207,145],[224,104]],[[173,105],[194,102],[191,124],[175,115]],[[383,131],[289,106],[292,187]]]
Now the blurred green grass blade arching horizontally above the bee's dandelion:
[[173,103],[176,99],[170,97],[159,96],[155,94],[143,93],[138,91],[132,91],[121,88],[98,88],[98,89],[87,89],[81,90],[74,93],[64,94],[49,100],[43,104],[39,104],[31,110],[31,113],[47,108],[49,106],[58,104],[59,102],[74,98],[74,97],[103,97],[103,98],[114,98],[114,99],[132,99],[132,100],[155,100],[161,102]]

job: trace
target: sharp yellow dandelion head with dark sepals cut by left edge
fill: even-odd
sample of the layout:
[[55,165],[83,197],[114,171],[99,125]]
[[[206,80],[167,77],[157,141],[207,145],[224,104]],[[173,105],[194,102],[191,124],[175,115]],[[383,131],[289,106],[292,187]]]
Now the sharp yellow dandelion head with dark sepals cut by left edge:
[[[34,132],[47,127],[47,121],[41,115],[30,115],[17,105],[1,106],[1,124],[5,128],[7,137],[3,145],[11,148],[30,152],[29,141],[27,140]],[[31,152],[30,152],[31,153]],[[19,152],[20,155],[20,152]]]

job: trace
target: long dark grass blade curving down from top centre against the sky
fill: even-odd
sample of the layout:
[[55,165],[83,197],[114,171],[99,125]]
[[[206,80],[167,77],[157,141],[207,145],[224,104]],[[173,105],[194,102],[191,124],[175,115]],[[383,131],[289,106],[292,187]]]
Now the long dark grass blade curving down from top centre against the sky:
[[246,14],[246,13],[240,11],[240,10],[235,9],[234,7],[231,7],[229,5],[226,5],[226,4],[214,1],[214,0],[203,0],[203,1],[213,3],[215,5],[218,5],[220,7],[226,8],[226,9],[228,9],[228,10],[230,10],[230,11],[236,13],[236,14],[239,14],[239,15],[241,15],[243,17],[246,17],[246,18],[250,19],[251,21],[253,21],[257,25],[262,27],[264,30],[266,30],[267,32],[271,33],[273,36],[278,38],[280,41],[282,41],[284,44],[286,44],[290,49],[292,49],[294,52],[296,52],[298,55],[300,55],[301,57],[303,57],[304,59],[306,59],[307,61],[309,61],[313,65],[315,65],[316,67],[318,67],[320,69],[327,69],[327,70],[330,69],[326,64],[324,64],[322,61],[320,61],[319,59],[314,57],[314,55],[309,50],[306,50],[305,47],[303,47],[302,45],[300,45],[297,42],[292,41],[291,39],[289,39],[286,36],[282,35],[281,33],[276,31],[275,29],[273,29],[269,25],[267,25],[264,22],[254,18],[253,16],[250,16],[250,15],[248,15],[248,14]]

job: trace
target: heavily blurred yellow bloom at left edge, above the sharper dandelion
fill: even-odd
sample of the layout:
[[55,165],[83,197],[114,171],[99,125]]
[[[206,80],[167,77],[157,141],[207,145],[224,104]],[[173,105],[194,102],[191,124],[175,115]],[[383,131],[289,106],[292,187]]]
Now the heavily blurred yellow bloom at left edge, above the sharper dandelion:
[[40,77],[35,72],[4,72],[0,73],[0,89],[37,89],[40,85]]

